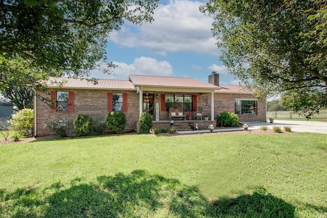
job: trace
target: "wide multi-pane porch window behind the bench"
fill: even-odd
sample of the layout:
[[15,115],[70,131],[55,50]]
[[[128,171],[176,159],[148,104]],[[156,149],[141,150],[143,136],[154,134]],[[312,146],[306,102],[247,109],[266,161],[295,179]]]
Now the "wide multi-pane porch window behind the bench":
[[182,108],[183,111],[193,111],[193,95],[192,94],[166,94],[166,111],[170,107]]

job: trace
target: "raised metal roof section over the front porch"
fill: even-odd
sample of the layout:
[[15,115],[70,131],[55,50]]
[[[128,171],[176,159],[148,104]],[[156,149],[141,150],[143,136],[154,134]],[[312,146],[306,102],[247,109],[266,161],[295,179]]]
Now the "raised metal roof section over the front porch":
[[130,75],[129,80],[134,84],[134,86],[167,86],[219,89],[219,86],[215,86],[210,83],[204,83],[193,78]]

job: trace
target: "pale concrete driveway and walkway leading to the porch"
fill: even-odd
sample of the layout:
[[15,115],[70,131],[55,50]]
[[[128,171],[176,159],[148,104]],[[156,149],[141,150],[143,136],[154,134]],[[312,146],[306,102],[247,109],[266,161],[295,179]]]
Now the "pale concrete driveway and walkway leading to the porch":
[[[311,132],[327,134],[327,123],[315,121],[294,121],[294,120],[274,120],[274,123],[265,122],[240,122],[241,124],[249,125],[249,129],[259,129],[262,126],[267,126],[272,129],[274,126],[279,126],[284,129],[284,126],[292,128],[292,132]],[[244,131],[243,128],[233,129],[215,129],[213,132],[230,132],[230,131]],[[209,133],[209,130],[199,131],[177,131],[180,134],[194,134],[194,133]]]

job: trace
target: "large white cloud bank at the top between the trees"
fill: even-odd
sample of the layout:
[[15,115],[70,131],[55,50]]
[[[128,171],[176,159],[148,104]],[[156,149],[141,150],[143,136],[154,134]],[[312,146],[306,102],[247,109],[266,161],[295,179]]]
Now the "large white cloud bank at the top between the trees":
[[147,47],[152,53],[194,52],[219,56],[211,28],[213,19],[199,11],[201,2],[171,1],[159,5],[154,21],[142,26],[126,26],[113,32],[109,40],[126,47]]

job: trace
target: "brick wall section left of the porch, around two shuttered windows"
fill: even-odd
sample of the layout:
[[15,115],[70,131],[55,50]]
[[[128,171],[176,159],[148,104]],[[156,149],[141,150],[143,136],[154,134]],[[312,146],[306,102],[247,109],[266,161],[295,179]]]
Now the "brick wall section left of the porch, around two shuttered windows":
[[[74,133],[73,120],[79,114],[89,115],[92,119],[104,120],[108,114],[107,111],[107,93],[108,90],[73,90],[73,89],[49,89],[50,91],[73,91],[74,92],[74,112],[55,111],[51,112],[48,104],[37,98],[36,106],[36,128],[37,136],[53,135],[54,133],[45,127],[53,120],[62,118],[69,119],[69,133]],[[128,93],[128,111],[126,115],[126,127],[124,131],[134,131],[135,122],[139,118],[138,99],[139,95],[135,91],[114,90],[113,93]],[[38,92],[43,98],[50,98],[46,93]]]

